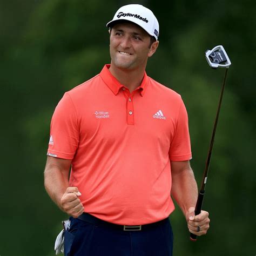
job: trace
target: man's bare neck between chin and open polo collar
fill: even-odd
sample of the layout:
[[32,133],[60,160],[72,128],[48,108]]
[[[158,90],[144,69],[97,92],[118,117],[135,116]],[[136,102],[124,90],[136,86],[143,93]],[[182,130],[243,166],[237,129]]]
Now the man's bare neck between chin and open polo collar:
[[114,77],[116,77],[119,83],[127,87],[130,92],[134,91],[137,87],[140,86],[145,73],[145,69],[125,70],[119,69],[112,64],[109,68],[109,71]]

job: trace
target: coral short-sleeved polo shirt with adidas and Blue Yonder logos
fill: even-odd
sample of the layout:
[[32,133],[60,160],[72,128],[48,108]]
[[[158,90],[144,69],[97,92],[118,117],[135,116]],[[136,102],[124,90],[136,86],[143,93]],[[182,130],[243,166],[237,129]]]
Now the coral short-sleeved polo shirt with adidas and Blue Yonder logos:
[[69,185],[85,212],[121,225],[167,218],[171,161],[191,159],[187,112],[178,93],[144,75],[133,92],[105,65],[66,92],[53,113],[48,156],[72,159]]

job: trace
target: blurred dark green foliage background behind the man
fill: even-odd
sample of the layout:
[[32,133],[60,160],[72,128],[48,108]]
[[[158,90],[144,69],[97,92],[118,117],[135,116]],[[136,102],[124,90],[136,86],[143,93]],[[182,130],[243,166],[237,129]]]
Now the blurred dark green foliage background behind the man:
[[184,99],[198,185],[224,77],[204,52],[222,44],[232,62],[204,201],[211,228],[191,242],[177,207],[174,255],[255,255],[255,1],[1,0],[1,256],[55,255],[67,216],[43,185],[51,116],[65,91],[110,63],[105,24],[129,3],[158,17],[147,74]]

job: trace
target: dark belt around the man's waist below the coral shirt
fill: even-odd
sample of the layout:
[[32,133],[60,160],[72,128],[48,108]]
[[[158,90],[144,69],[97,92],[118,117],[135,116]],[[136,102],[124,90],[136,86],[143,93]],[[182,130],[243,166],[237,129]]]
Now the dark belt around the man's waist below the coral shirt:
[[145,225],[118,225],[118,224],[113,224],[110,223],[108,221],[99,219],[94,217],[93,215],[89,214],[89,213],[83,213],[82,215],[80,215],[78,217],[79,220],[83,220],[87,223],[93,224],[93,225],[102,225],[102,226],[106,226],[109,228],[113,228],[115,230],[123,230],[123,231],[140,231],[140,230],[147,230],[149,228],[158,226],[160,224],[163,224],[168,218],[154,222],[154,223],[150,223],[150,224],[145,224]]

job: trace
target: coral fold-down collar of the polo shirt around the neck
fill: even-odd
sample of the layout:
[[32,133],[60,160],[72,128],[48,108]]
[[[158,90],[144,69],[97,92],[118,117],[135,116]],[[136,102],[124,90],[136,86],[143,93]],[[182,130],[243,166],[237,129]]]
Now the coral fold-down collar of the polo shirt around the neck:
[[[117,95],[117,93],[120,91],[121,88],[124,87],[123,84],[119,83],[119,81],[114,77],[111,72],[109,71],[110,64],[106,64],[102,71],[99,73],[100,77],[103,79],[105,84],[109,87],[109,89],[114,93],[114,95]],[[143,96],[145,94],[145,90],[147,87],[147,74],[146,71],[144,73],[144,77],[142,80],[142,84],[136,89],[139,90],[140,95]]]

